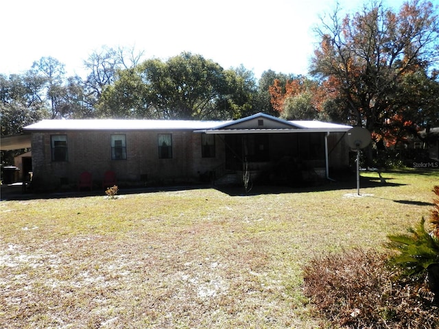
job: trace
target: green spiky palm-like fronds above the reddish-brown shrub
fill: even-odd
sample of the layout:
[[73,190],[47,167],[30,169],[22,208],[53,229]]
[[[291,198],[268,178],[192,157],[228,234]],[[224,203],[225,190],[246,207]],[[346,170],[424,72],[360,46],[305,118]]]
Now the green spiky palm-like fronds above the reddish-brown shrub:
[[386,246],[398,252],[390,263],[400,267],[403,274],[412,276],[421,273],[432,264],[439,263],[439,241],[425,228],[421,219],[408,234],[390,234]]

